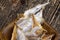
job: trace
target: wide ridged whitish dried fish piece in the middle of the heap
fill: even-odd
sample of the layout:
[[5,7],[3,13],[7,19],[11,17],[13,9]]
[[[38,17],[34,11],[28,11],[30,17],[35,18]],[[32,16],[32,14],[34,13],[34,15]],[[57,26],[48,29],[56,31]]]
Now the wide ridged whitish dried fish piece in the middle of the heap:
[[20,19],[17,21],[17,26],[21,28],[24,32],[32,28],[32,18],[29,19]]

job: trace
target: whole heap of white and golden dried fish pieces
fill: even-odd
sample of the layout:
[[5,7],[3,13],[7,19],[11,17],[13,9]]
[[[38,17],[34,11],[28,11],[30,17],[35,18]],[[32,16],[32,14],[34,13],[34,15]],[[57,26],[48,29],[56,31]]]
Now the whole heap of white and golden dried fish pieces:
[[[38,4],[36,7],[25,11],[23,18],[20,18],[16,25],[17,40],[51,40],[52,35],[46,36],[47,30],[43,28],[41,23],[44,22],[42,12],[44,7],[49,4]],[[35,14],[36,13],[36,14]],[[22,29],[22,30],[21,30]],[[40,36],[39,36],[40,35]]]

